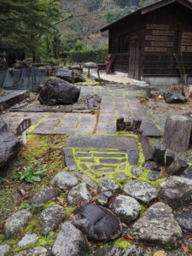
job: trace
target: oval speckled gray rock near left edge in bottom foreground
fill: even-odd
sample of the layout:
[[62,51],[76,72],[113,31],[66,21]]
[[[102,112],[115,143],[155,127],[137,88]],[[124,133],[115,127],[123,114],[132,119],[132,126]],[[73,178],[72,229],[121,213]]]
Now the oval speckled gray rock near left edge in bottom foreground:
[[15,237],[32,218],[27,210],[15,212],[4,224],[3,231],[7,239]]

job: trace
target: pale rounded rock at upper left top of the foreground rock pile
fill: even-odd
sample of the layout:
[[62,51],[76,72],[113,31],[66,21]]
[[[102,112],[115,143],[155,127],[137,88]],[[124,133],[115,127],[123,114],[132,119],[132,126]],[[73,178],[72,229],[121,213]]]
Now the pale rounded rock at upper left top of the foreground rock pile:
[[77,177],[74,177],[71,173],[62,171],[53,177],[50,181],[51,185],[55,185],[60,189],[71,189],[78,183]]

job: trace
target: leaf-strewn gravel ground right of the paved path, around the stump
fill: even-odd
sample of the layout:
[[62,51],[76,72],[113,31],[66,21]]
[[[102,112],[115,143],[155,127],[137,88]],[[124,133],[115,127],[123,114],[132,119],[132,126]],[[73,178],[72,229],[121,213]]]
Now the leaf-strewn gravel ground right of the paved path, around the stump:
[[[186,104],[166,104],[166,102],[160,98],[149,99],[147,101],[141,99],[141,102],[161,131],[164,131],[167,116],[184,115],[192,112],[192,98],[190,98],[189,102]],[[163,143],[163,140],[151,138],[150,143],[159,145]],[[192,148],[184,153],[177,153],[177,156],[192,164]]]

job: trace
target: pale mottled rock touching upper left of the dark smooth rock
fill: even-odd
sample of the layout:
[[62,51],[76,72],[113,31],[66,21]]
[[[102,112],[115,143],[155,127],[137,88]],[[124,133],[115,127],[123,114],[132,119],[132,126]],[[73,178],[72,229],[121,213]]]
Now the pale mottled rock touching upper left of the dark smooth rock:
[[85,183],[73,187],[67,195],[67,201],[70,205],[76,206],[81,204],[83,201],[87,201],[91,198],[90,192],[86,187]]

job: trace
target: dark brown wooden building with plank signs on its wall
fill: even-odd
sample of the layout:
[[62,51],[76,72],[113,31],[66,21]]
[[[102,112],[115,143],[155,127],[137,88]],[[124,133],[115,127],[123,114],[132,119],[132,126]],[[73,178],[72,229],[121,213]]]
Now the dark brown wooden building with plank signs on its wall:
[[163,0],[102,28],[109,31],[113,71],[151,84],[192,84],[192,3]]

